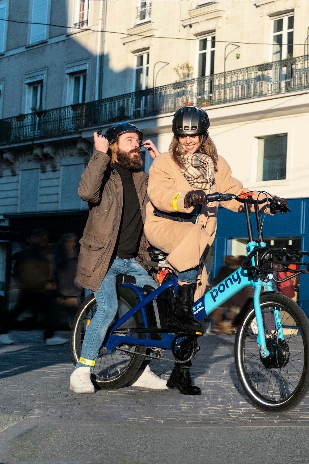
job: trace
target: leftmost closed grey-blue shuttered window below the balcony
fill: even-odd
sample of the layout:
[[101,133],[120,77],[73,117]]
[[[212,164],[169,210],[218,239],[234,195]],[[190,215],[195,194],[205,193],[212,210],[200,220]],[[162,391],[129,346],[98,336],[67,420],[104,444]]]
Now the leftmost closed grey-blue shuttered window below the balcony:
[[38,211],[39,169],[21,169],[19,181],[19,213]]

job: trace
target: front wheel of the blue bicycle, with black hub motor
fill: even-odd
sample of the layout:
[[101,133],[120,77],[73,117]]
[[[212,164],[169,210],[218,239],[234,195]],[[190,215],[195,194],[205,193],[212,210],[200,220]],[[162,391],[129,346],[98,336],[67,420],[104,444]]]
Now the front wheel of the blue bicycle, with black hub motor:
[[[303,399],[309,387],[309,321],[298,304],[280,294],[262,295],[260,305],[270,355],[260,355],[252,302],[236,333],[237,374],[249,399],[259,409],[287,411]],[[284,340],[278,338],[276,313],[280,314]]]

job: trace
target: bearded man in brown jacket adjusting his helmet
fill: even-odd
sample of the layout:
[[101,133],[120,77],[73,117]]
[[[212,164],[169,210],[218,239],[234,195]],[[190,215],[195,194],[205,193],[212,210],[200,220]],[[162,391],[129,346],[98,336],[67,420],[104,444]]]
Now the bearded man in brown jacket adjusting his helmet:
[[[89,217],[81,239],[76,281],[94,291],[97,310],[85,333],[82,353],[70,377],[75,393],[94,393],[90,380],[102,340],[117,312],[116,277],[132,275],[136,284],[154,286],[154,280],[139,264],[147,259],[144,235],[148,174],[142,166],[140,147],[152,158],[159,152],[133,124],[123,122],[107,130],[104,137],[94,133],[95,153],[90,158],[78,187],[88,201]],[[167,389],[166,382],[148,365],[132,384],[136,387]]]

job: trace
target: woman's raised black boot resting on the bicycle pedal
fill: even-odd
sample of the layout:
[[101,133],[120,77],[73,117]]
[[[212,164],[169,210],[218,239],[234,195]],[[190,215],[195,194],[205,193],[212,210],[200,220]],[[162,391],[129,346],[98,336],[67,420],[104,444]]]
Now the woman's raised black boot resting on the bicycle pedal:
[[174,298],[175,313],[168,323],[182,330],[202,332],[202,325],[192,312],[193,288],[195,284],[178,285],[178,294]]

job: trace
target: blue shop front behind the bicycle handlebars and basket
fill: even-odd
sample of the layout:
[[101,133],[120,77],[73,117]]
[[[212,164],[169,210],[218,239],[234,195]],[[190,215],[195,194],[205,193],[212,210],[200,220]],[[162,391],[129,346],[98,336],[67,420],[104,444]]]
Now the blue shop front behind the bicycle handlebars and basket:
[[[265,215],[263,224],[264,241],[276,248],[297,248],[309,251],[309,198],[288,199],[291,213],[275,216]],[[263,220],[264,215],[262,215]],[[253,232],[257,236],[255,217],[252,214]],[[246,254],[246,217],[219,207],[218,228],[214,240],[212,277],[217,276],[223,266],[225,255]],[[298,304],[309,317],[309,274],[300,276]]]

